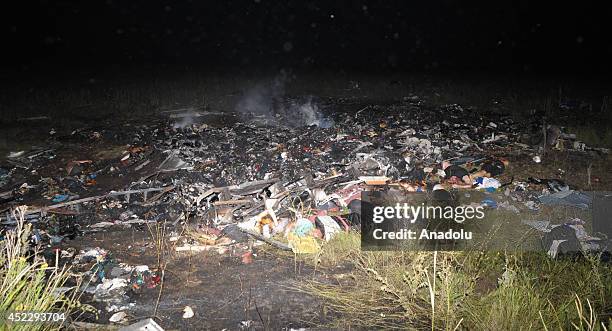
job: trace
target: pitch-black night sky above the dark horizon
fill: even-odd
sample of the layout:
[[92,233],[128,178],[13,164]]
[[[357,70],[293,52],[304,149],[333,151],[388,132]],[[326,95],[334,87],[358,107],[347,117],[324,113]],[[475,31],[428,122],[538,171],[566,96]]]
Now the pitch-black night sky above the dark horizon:
[[[552,1],[18,1],[4,69],[610,72],[611,11]],[[30,69],[31,70],[31,69]]]

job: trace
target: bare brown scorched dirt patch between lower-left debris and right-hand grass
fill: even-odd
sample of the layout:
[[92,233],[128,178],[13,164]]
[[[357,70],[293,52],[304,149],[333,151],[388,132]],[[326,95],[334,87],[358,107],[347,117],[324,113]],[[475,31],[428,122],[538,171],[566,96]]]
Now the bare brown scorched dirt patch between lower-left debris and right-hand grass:
[[[83,236],[67,241],[66,246],[92,245],[113,252],[117,263],[149,265],[157,263],[155,248],[146,231],[109,231],[97,236]],[[244,264],[242,250],[216,253],[174,253],[168,259],[157,318],[166,329],[290,329],[325,323],[321,303],[299,293],[296,286],[304,279],[325,281],[326,273],[316,271],[303,261],[260,247],[253,262]],[[136,305],[130,320],[153,316],[159,287],[128,292]],[[94,304],[96,305],[96,304]],[[183,308],[190,306],[195,316],[183,319]],[[100,307],[102,308],[102,307]],[[111,314],[102,314],[105,321]],[[96,322],[93,316],[84,318]],[[248,325],[248,326],[247,326]]]

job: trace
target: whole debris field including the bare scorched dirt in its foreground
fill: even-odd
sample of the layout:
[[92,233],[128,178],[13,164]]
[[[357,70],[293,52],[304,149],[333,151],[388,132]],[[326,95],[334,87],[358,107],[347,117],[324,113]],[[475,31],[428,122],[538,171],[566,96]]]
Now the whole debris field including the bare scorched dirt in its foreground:
[[[363,191],[475,189],[480,205],[518,214],[588,206],[582,191],[603,189],[609,176],[580,182],[556,166],[561,154],[605,163],[608,151],[538,121],[531,130],[418,96],[342,111],[342,100],[314,102],[288,100],[264,115],[181,108],[71,132],[50,127],[42,146],[11,152],[0,168],[2,224],[17,222],[11,208],[29,207],[33,244],[85,276],[82,300],[96,311],[88,322],[154,324],[146,318],[156,315],[168,327],[299,327],[318,301],[285,288],[311,267],[268,248],[316,254],[359,231]],[[580,219],[566,221],[516,224],[541,231],[551,257],[606,245]]]

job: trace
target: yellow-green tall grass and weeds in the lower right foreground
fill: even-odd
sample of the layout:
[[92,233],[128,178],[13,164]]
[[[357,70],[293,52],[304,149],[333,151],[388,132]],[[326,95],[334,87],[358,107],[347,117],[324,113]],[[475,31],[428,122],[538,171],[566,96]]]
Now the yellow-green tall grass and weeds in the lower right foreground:
[[323,247],[322,268],[349,277],[310,281],[333,316],[326,327],[430,330],[610,330],[612,268],[596,257],[542,253],[366,252],[358,234]]

